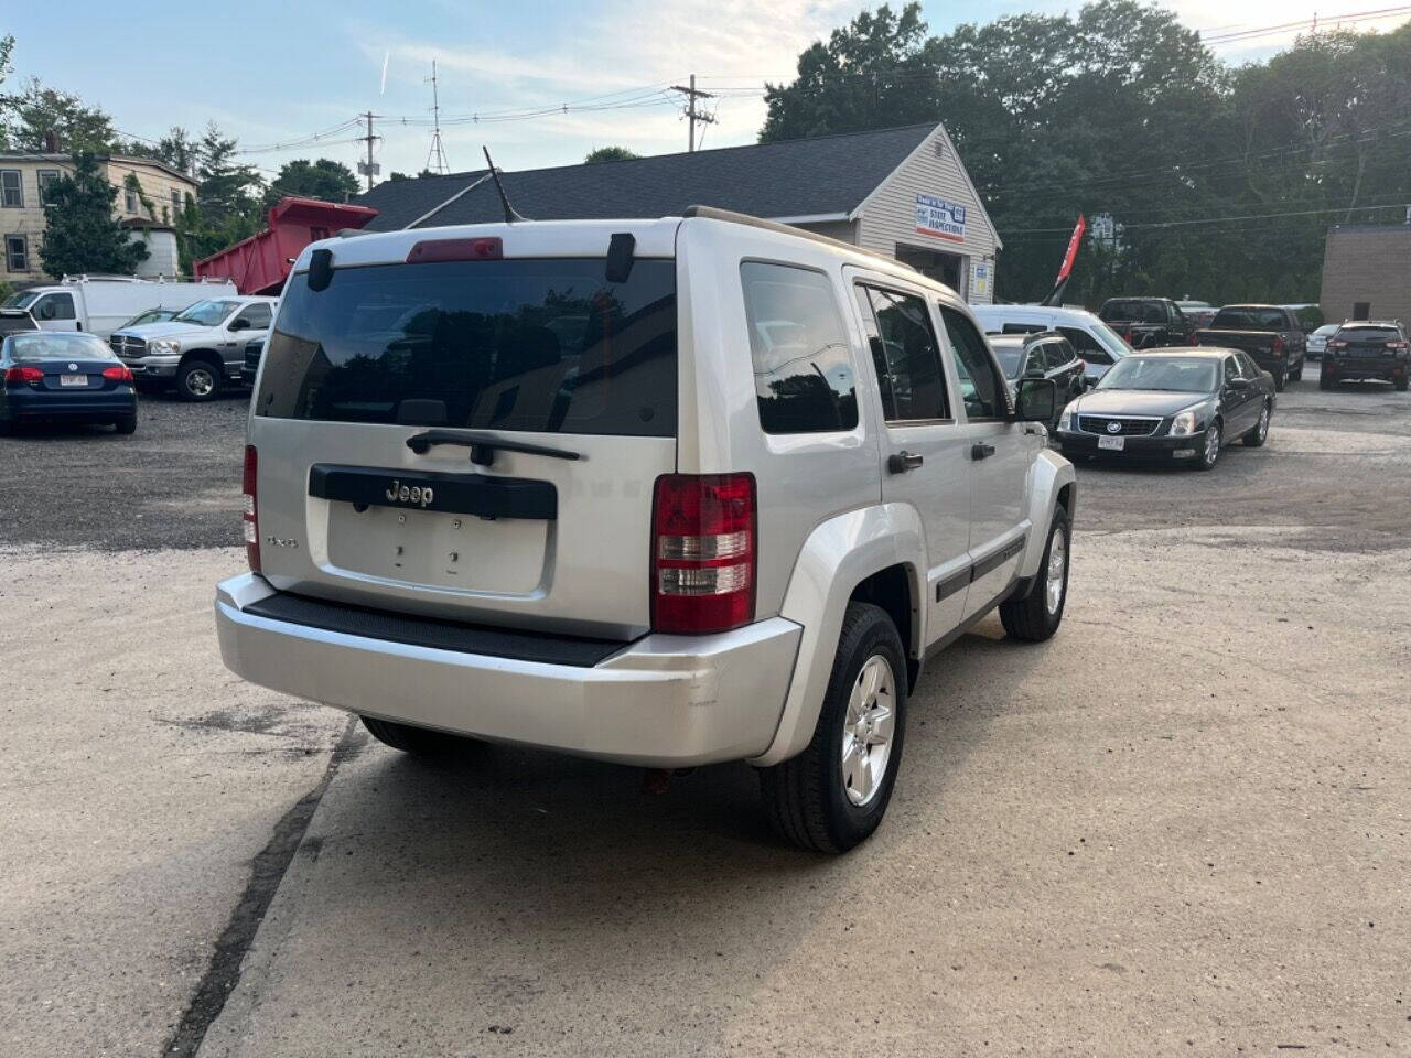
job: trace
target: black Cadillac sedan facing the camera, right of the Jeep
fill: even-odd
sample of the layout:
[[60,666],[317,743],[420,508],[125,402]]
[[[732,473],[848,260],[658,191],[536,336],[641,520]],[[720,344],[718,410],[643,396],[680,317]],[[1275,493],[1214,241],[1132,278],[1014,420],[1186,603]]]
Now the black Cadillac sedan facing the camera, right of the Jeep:
[[1119,360],[1058,419],[1064,456],[1184,463],[1211,470],[1236,440],[1259,447],[1274,379],[1247,353],[1168,348]]

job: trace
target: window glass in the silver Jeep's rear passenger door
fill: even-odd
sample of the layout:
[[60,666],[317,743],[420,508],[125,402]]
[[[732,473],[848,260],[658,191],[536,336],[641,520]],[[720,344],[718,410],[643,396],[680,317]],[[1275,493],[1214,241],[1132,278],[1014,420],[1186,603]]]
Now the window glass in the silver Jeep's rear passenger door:
[[912,293],[859,286],[868,344],[888,422],[948,419],[945,374],[926,302]]

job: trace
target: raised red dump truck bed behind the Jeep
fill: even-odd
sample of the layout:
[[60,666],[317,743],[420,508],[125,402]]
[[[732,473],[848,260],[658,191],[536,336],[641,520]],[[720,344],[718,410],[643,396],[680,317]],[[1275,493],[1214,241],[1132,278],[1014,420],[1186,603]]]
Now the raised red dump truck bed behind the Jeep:
[[285,197],[270,207],[270,227],[233,247],[196,261],[198,279],[230,279],[240,293],[279,293],[291,262],[320,238],[347,227],[363,227],[377,210],[319,199]]

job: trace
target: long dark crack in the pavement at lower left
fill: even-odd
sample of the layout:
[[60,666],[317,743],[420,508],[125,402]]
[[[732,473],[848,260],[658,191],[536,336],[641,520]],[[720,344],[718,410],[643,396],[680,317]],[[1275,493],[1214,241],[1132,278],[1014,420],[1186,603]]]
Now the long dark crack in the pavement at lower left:
[[250,951],[250,944],[264,921],[270,901],[274,900],[279,883],[284,880],[289,863],[293,861],[303,835],[309,829],[313,813],[323,800],[329,783],[337,774],[339,766],[350,760],[367,745],[367,736],[358,728],[357,717],[350,715],[343,734],[339,736],[333,752],[329,755],[329,765],[323,772],[319,784],[295,801],[275,824],[270,841],[254,858],[250,868],[250,880],[246,883],[240,900],[236,901],[226,928],[212,948],[210,962],[202,975],[196,990],[192,993],[186,1010],[182,1011],[176,1031],[162,1048],[164,1055],[175,1058],[192,1058],[206,1038],[206,1031],[212,1023],[220,1017],[226,1007],[226,1000],[240,982],[240,972]]

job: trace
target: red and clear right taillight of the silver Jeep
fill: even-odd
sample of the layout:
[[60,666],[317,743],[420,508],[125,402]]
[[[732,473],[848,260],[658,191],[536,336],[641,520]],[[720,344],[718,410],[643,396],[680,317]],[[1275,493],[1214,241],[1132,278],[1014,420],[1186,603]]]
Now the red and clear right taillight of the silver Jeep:
[[652,631],[724,632],[755,616],[755,475],[663,474],[652,505]]

